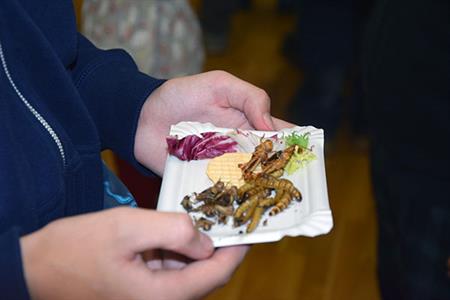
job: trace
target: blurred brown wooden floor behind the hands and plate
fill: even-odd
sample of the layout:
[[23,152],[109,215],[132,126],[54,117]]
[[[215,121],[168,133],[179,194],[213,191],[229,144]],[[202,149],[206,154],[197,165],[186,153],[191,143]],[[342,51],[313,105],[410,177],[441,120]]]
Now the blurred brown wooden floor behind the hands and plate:
[[[301,83],[300,72],[279,51],[293,19],[278,15],[273,1],[256,2],[258,6],[235,16],[229,49],[208,57],[206,70],[224,69],[264,88],[274,115],[283,118]],[[355,147],[342,129],[326,156],[326,168],[332,232],[253,246],[231,282],[208,300],[379,299],[367,150]]]

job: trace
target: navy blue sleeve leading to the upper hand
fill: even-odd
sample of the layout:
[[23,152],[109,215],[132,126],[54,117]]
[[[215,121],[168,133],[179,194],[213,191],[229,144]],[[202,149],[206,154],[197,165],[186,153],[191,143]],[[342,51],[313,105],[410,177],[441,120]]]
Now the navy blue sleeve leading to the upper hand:
[[148,173],[134,156],[134,137],[141,107],[164,80],[139,72],[123,50],[100,50],[78,34],[72,78],[100,134],[103,149],[111,149]]

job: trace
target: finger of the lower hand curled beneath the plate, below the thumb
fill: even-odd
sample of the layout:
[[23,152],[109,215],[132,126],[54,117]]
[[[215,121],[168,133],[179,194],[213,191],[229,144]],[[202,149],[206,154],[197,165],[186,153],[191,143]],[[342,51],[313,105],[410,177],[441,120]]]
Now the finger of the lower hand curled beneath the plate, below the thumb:
[[202,297],[229,281],[248,249],[248,246],[220,248],[210,258],[195,261],[181,270],[158,272],[154,283],[168,285],[170,299],[188,298],[186,295]]

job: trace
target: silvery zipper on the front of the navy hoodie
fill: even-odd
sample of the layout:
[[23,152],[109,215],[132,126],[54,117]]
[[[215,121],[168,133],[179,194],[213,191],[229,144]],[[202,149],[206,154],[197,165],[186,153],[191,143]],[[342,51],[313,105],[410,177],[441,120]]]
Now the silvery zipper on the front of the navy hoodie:
[[61,139],[56,134],[55,130],[50,126],[50,124],[44,119],[44,117],[33,107],[33,105],[28,102],[28,100],[25,98],[25,96],[20,92],[16,84],[14,83],[14,80],[11,77],[11,74],[8,70],[8,65],[6,64],[5,55],[3,54],[3,47],[2,43],[0,42],[0,60],[2,62],[3,70],[5,71],[6,77],[8,78],[8,81],[14,91],[16,92],[17,96],[20,98],[22,103],[26,106],[26,108],[33,114],[33,116],[38,120],[38,122],[44,127],[44,129],[50,134],[51,138],[55,142],[56,146],[58,147],[59,154],[61,155],[61,159],[63,162],[63,168],[66,167],[66,155],[64,152],[64,147],[61,143]]

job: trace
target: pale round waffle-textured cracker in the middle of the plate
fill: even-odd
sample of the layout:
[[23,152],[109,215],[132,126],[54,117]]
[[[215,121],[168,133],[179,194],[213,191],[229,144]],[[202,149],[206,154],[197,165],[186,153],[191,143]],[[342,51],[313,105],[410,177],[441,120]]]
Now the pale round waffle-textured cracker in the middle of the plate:
[[209,161],[206,174],[214,183],[221,180],[225,184],[240,187],[245,182],[238,164],[248,162],[251,157],[251,153],[225,153]]

